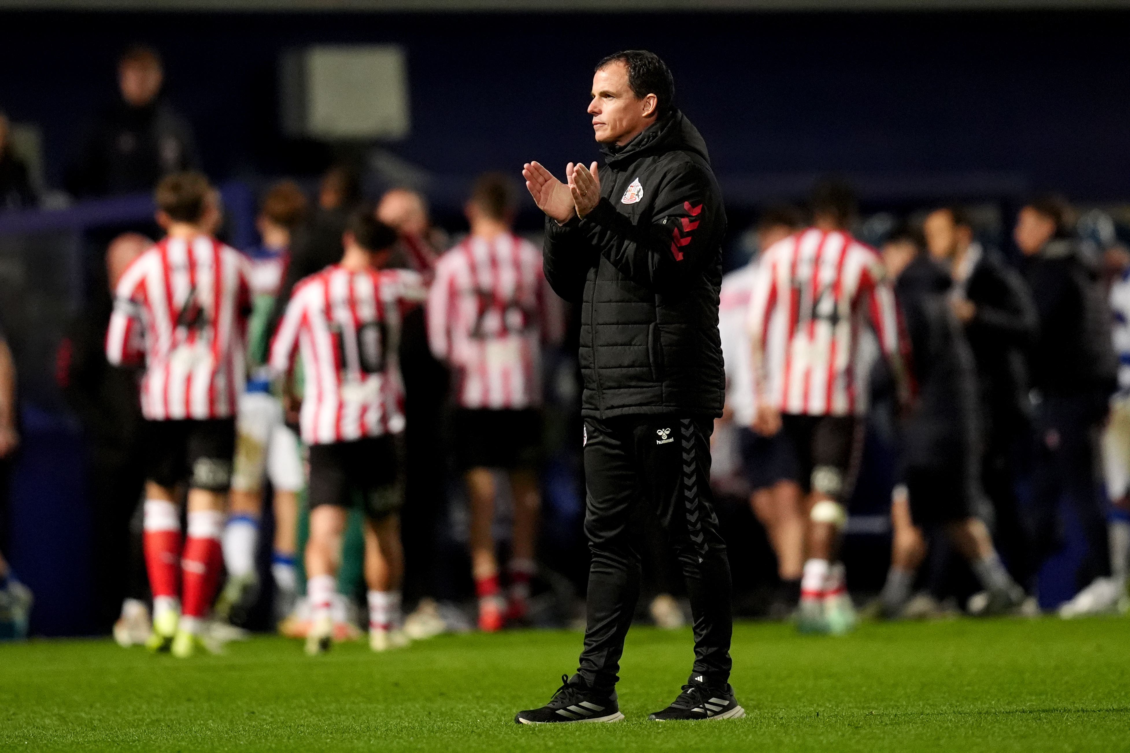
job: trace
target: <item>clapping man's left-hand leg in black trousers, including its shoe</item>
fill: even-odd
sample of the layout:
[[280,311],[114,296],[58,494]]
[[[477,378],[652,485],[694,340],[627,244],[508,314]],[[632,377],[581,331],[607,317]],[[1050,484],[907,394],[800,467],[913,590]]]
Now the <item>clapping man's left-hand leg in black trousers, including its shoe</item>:
[[546,706],[520,711],[519,724],[618,721],[616,700],[624,638],[640,599],[640,553],[632,543],[632,509],[640,478],[631,428],[614,419],[584,421],[584,531],[592,560],[586,596],[588,624],[580,667]]

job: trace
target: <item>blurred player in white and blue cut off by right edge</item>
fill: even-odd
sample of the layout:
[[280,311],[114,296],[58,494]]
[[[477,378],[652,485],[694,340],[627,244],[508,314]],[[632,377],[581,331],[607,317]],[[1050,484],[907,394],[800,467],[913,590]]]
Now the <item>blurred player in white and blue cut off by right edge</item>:
[[1111,244],[1104,254],[1111,274],[1109,300],[1112,343],[1119,358],[1118,391],[1111,396],[1110,418],[1103,429],[1103,475],[1107,514],[1106,534],[1111,550],[1111,575],[1090,581],[1060,606],[1061,618],[1125,612],[1127,570],[1130,568],[1130,254]]

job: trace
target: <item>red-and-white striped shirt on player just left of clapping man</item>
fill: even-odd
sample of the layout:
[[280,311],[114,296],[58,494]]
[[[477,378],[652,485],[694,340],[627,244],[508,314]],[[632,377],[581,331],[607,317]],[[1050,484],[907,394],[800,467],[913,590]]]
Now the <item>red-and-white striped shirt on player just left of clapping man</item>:
[[463,408],[541,404],[541,344],[564,329],[533,244],[471,236],[440,257],[428,295],[432,352],[451,365]]

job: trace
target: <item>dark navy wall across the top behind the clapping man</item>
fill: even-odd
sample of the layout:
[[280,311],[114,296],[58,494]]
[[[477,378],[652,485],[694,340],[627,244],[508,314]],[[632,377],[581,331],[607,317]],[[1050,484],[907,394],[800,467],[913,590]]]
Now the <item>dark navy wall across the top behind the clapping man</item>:
[[280,51],[397,42],[408,51],[412,134],[394,150],[466,176],[592,158],[592,64],[646,46],[675,71],[718,173],[734,178],[731,201],[791,193],[825,170],[866,177],[876,196],[970,184],[1102,200],[1130,195],[1128,21],[1114,11],[9,12],[0,14],[0,108],[44,128],[58,183],[76,124],[113,95],[115,54],[147,41],[166,55],[168,91],[210,173],[310,173],[328,155],[279,134]]

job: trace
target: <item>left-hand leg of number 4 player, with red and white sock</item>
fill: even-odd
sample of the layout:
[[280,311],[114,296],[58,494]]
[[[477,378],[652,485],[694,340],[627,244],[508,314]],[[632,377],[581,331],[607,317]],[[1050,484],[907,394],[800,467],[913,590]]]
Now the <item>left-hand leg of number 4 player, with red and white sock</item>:
[[167,651],[181,616],[181,511],[176,484],[186,448],[181,421],[145,422],[146,483],[142,545],[153,593],[153,632],[146,646]]

